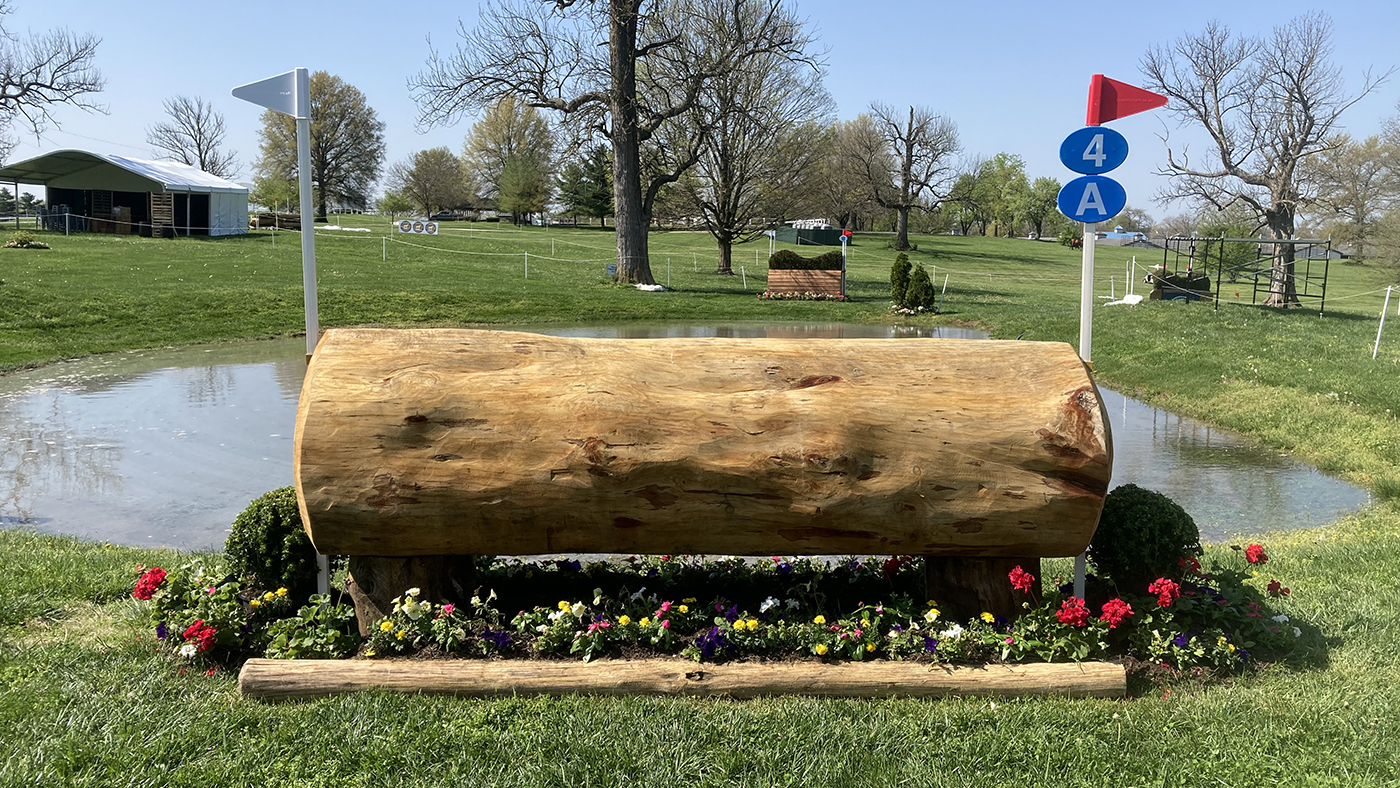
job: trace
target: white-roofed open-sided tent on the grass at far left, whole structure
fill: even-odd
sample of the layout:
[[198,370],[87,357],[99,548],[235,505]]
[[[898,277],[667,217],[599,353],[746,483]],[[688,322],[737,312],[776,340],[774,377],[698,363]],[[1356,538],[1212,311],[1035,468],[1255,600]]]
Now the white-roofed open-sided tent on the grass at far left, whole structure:
[[[125,202],[133,223],[171,225],[181,235],[248,232],[246,188],[174,161],[62,150],[0,168],[0,183],[15,183],[17,193],[21,183],[43,186],[50,207],[69,200],[83,206],[74,213],[92,218],[108,218]],[[113,203],[113,195],[125,197]]]

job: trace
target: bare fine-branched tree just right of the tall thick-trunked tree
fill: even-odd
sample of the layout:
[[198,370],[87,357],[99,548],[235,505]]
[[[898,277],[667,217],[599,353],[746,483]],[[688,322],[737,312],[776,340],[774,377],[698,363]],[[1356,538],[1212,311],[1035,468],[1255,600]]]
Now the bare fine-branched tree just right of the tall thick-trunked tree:
[[708,133],[685,181],[718,245],[715,273],[734,274],[734,245],[769,228],[755,220],[783,216],[798,199],[797,186],[822,153],[819,122],[832,108],[820,71],[777,55],[715,77],[700,109]]

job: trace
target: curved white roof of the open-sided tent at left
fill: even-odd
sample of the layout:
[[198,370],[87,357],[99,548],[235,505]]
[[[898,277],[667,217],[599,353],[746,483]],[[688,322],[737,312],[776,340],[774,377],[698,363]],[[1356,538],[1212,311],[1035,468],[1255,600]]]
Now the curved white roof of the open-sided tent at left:
[[0,183],[111,192],[239,192],[245,186],[174,161],[60,150],[0,168]]

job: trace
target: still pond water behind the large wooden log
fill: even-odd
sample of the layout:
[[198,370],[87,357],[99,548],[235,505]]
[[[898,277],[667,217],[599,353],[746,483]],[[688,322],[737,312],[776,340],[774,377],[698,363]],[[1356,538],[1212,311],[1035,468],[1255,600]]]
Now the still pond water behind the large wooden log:
[[[937,336],[949,328],[637,325],[518,328],[588,337]],[[304,340],[115,353],[0,377],[0,526],[122,544],[218,547],[234,516],[291,484]],[[1238,435],[1103,391],[1113,484],[1161,490],[1203,539],[1324,525],[1366,502],[1344,481]]]

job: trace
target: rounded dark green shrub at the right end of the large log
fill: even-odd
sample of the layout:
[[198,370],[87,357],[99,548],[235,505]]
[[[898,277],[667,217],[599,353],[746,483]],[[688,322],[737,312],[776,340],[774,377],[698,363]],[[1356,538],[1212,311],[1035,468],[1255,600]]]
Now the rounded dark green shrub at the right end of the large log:
[[1109,493],[1089,543],[1096,574],[1131,593],[1144,593],[1159,577],[1180,577],[1182,558],[1200,554],[1201,533],[1191,515],[1172,498],[1137,484]]

